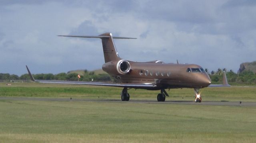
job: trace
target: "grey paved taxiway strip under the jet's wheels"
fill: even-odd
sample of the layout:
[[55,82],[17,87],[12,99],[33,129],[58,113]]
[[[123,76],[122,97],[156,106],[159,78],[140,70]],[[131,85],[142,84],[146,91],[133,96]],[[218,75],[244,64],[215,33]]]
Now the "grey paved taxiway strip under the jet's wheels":
[[63,101],[63,102],[112,102],[112,103],[134,103],[134,104],[184,104],[184,105],[213,105],[213,106],[256,106],[256,102],[239,101],[202,101],[196,103],[194,101],[185,100],[166,100],[158,102],[156,100],[132,100],[121,101],[118,99],[85,99],[85,98],[41,98],[41,97],[0,97],[0,100],[35,100],[35,101]]

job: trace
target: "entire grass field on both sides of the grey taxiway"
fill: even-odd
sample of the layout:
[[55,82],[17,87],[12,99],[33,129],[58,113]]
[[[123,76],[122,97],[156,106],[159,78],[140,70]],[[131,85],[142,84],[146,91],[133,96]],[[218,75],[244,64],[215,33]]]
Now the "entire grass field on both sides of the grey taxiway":
[[[121,88],[0,84],[0,96],[119,99]],[[130,99],[159,91],[129,90]],[[194,100],[192,89],[168,100]],[[256,101],[256,88],[205,88],[203,101]],[[182,99],[182,97],[184,99]],[[256,142],[256,107],[0,100],[0,142]]]

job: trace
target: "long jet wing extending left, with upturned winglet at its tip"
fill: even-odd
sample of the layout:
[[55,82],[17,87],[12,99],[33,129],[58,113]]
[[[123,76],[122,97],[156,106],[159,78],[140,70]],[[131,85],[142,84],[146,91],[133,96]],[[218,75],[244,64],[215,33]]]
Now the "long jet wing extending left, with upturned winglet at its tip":
[[107,83],[107,82],[79,82],[79,81],[63,81],[63,80],[35,80],[33,75],[28,69],[30,79],[34,82],[40,83],[56,83],[56,84],[84,84],[84,85],[97,85],[97,86],[114,86],[114,87],[127,87],[127,88],[154,88],[156,84],[152,83]]

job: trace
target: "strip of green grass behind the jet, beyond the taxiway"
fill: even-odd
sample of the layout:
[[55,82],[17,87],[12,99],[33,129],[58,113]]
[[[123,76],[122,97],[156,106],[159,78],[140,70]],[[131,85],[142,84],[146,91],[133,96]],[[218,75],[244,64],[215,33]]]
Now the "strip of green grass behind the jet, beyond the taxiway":
[[[0,83],[0,96],[25,96],[25,97],[76,97],[120,99],[122,88],[106,86],[84,86],[41,83],[12,83],[6,86]],[[160,91],[130,89],[130,99],[156,100]],[[170,97],[166,100],[194,100],[193,89],[171,89]],[[231,87],[231,88],[203,88],[200,90],[203,101],[254,101],[256,102],[256,87]]]

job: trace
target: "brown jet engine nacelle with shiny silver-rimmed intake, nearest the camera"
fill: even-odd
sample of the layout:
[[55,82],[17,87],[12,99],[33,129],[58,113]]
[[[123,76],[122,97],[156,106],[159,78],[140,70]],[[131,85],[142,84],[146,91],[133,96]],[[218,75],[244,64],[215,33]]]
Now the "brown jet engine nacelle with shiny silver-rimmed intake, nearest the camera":
[[126,60],[111,61],[102,65],[102,69],[109,74],[127,74],[131,65]]

